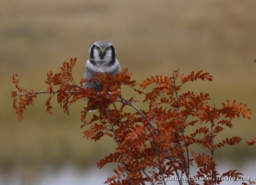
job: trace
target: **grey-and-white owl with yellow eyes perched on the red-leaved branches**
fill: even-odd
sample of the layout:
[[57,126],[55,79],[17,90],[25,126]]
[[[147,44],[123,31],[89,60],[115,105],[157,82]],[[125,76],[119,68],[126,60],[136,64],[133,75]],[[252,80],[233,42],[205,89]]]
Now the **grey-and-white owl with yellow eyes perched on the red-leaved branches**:
[[[116,49],[106,41],[99,41],[92,44],[90,51],[90,58],[85,66],[85,79],[92,79],[95,73],[108,73],[111,76],[120,73],[121,67],[119,61],[116,59]],[[95,91],[102,91],[103,84],[99,81],[85,82],[85,88],[93,88]],[[91,108],[89,112],[97,111],[97,108]]]

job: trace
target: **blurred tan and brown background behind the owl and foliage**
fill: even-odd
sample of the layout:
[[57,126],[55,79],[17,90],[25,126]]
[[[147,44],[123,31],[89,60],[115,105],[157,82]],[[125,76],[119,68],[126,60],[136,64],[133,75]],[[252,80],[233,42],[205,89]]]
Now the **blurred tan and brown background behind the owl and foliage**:
[[[209,93],[216,108],[227,99],[247,104],[252,118],[234,119],[234,127],[219,138],[240,136],[243,141],[217,150],[215,160],[220,173],[238,169],[254,181],[256,149],[245,141],[256,135],[255,8],[254,0],[2,0],[0,184],[103,184],[114,174],[112,166],[99,169],[96,162],[114,152],[116,144],[109,138],[96,143],[83,138],[85,102],[73,104],[67,116],[53,99],[49,115],[48,96],[41,94],[22,122],[12,108],[13,74],[23,88],[45,91],[46,72],[60,72],[64,61],[77,58],[73,76],[80,81],[96,41],[113,43],[121,67],[137,82],[156,74],[172,76],[178,68],[185,75],[203,69],[214,80],[188,83],[180,93]],[[128,89],[125,93],[138,96]],[[147,108],[141,101],[136,106]]]

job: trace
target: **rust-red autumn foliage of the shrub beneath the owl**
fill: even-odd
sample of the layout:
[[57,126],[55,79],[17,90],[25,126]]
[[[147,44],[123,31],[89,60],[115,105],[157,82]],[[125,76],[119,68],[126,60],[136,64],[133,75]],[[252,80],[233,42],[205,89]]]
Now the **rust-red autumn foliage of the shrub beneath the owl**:
[[[225,138],[215,143],[215,138],[225,128],[232,128],[232,120],[243,116],[250,119],[250,109],[246,104],[236,101],[223,103],[220,109],[213,104],[209,94],[195,92],[179,93],[181,88],[197,80],[212,81],[209,73],[191,72],[188,76],[174,71],[170,77],[155,76],[147,78],[142,83],[131,79],[131,73],[123,69],[120,74],[111,77],[108,74],[96,74],[95,78],[104,84],[101,92],[84,88],[86,81],[79,83],[72,77],[72,69],[76,58],[64,62],[60,73],[47,73],[45,81],[48,88],[43,92],[28,91],[19,86],[17,74],[13,75],[13,83],[17,91],[12,92],[13,108],[19,121],[23,119],[23,111],[35,101],[38,94],[48,94],[46,112],[52,114],[51,99],[57,96],[57,101],[69,114],[69,108],[76,101],[88,101],[81,111],[81,128],[90,125],[83,133],[87,139],[98,141],[102,137],[111,137],[116,142],[116,150],[101,159],[97,166],[102,168],[107,163],[116,163],[117,167],[105,183],[107,184],[166,184],[168,177],[185,177],[179,184],[198,184],[195,177],[203,179],[204,184],[219,184],[217,177],[227,176],[239,178],[242,173],[230,170],[219,174],[214,161],[216,149],[228,145],[235,145],[242,141],[238,136]],[[135,106],[136,99],[122,96],[122,87],[128,86],[134,90],[134,96],[143,96],[143,102],[148,105],[147,110],[140,110]],[[140,87],[139,87],[140,86]],[[146,91],[148,87],[151,90]],[[54,90],[54,89],[57,90]],[[86,103],[85,103],[86,105]],[[90,107],[99,107],[98,112],[87,114]],[[134,108],[134,112],[126,112],[126,107]],[[194,128],[192,133],[186,132]],[[256,142],[255,136],[248,145]],[[193,151],[193,144],[205,149],[204,153]],[[206,152],[208,151],[208,152]],[[209,153],[207,155],[206,153]],[[193,172],[191,167],[198,171]],[[161,178],[163,177],[163,181]],[[254,182],[249,182],[253,184]],[[244,183],[246,184],[246,183]]]

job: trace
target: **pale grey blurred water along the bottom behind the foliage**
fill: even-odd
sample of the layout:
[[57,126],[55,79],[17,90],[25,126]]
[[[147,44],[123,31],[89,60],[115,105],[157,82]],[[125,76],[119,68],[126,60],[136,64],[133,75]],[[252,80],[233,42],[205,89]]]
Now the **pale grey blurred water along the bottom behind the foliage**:
[[[222,163],[218,165],[219,173],[227,172],[230,169],[237,169],[234,164],[231,163]],[[250,181],[256,182],[256,161],[247,161],[241,169],[238,169],[239,172],[244,174],[244,177],[250,177]],[[99,169],[97,167],[90,168],[86,171],[81,171],[71,164],[63,165],[62,168],[58,171],[55,171],[51,166],[45,166],[42,173],[38,178],[24,179],[16,172],[13,172],[11,176],[6,178],[3,174],[0,175],[0,185],[98,185],[104,184],[106,179],[113,175],[114,171],[110,169]],[[203,182],[199,182],[203,184]],[[248,183],[248,182],[246,182]],[[175,181],[167,181],[166,184],[178,184]],[[186,184],[185,182],[183,184]],[[235,185],[242,184],[240,181],[223,181],[220,184],[223,185]]]

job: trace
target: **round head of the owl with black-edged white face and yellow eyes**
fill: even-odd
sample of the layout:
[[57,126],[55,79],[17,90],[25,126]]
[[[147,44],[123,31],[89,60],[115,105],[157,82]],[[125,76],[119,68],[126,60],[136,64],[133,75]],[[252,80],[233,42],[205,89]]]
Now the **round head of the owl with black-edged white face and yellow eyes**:
[[116,49],[106,41],[99,41],[92,44],[90,48],[90,58],[95,61],[109,62],[116,58]]

